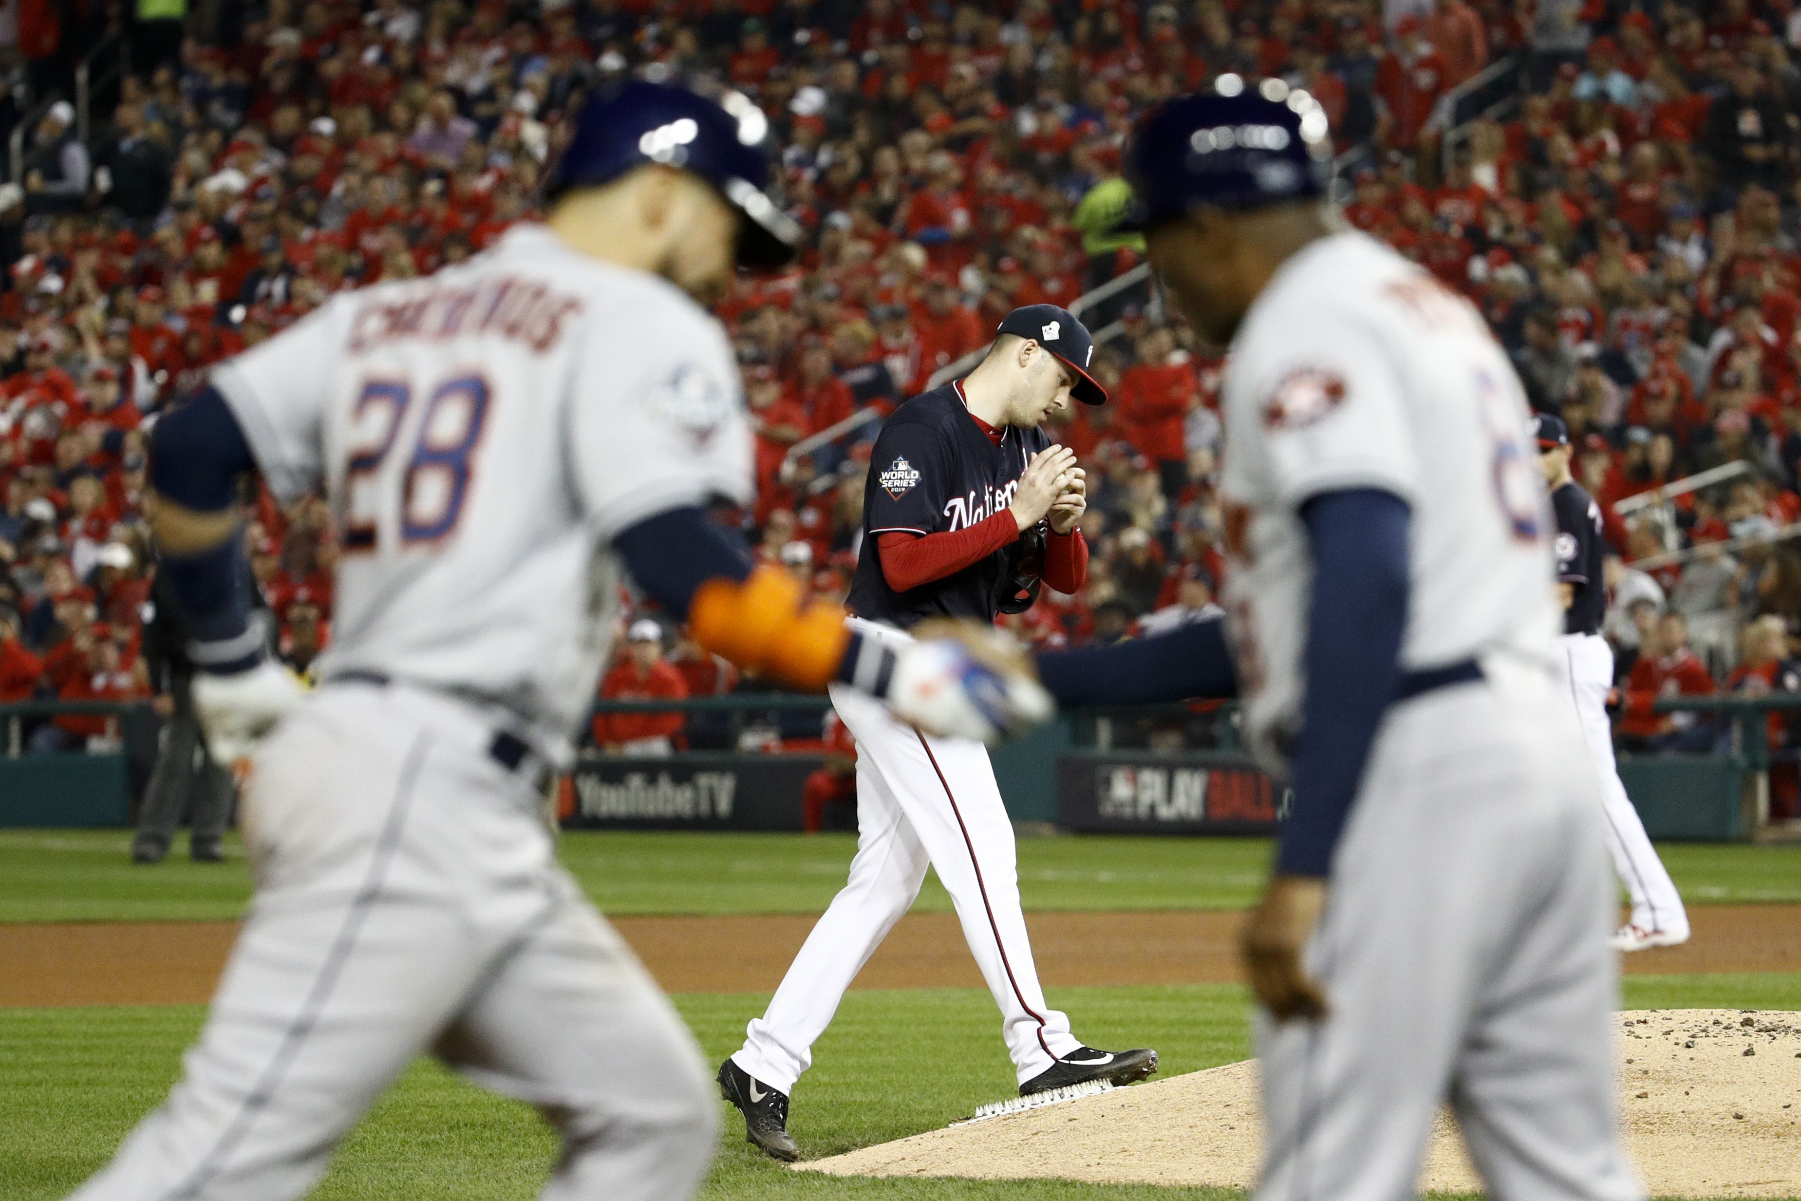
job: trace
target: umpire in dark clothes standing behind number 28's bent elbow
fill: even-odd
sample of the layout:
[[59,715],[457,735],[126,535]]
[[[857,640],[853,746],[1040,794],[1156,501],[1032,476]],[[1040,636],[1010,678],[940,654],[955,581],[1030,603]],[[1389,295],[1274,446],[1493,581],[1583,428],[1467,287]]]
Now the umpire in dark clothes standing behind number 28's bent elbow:
[[[254,582],[250,594],[259,596]],[[160,567],[151,580],[144,610],[144,663],[155,693],[151,704],[166,724],[157,767],[137,816],[131,862],[160,862],[169,853],[184,814],[193,826],[187,853],[195,862],[220,862],[225,859],[222,841],[236,785],[231,772],[213,762],[200,733],[191,688],[195,666],[187,659],[189,632],[175,589]]]

